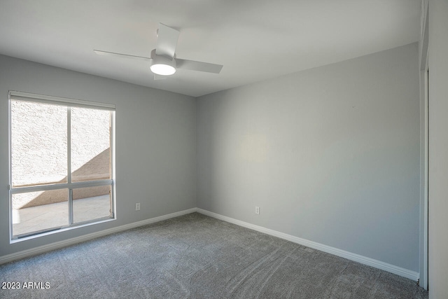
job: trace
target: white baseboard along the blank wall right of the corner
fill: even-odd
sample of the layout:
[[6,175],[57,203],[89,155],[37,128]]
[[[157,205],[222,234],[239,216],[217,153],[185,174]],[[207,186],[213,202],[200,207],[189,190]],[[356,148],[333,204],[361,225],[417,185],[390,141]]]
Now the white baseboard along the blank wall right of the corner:
[[346,258],[348,260],[353,260],[355,262],[358,262],[358,263],[361,263],[361,264],[364,264],[364,265],[369,265],[371,267],[376,267],[376,268],[378,268],[380,270],[384,270],[384,271],[387,271],[387,272],[391,272],[393,274],[400,275],[402,277],[406,277],[408,279],[412,279],[413,281],[417,281],[417,279],[419,279],[419,277],[420,277],[418,272],[414,272],[412,270],[407,270],[405,268],[398,267],[398,266],[395,266],[395,265],[391,265],[391,264],[388,264],[388,263],[384,263],[384,262],[381,262],[381,260],[374,260],[373,258],[367,258],[366,256],[360,256],[359,254],[356,254],[356,253],[351,253],[349,251],[344,251],[342,249],[337,249],[337,248],[332,247],[332,246],[327,246],[327,245],[320,244],[320,243],[317,243],[317,242],[312,242],[312,241],[309,241],[307,239],[302,239],[300,237],[295,237],[293,235],[285,234],[283,232],[277,232],[276,230],[270,230],[269,228],[263,228],[262,226],[259,226],[259,225],[254,225],[254,224],[247,223],[247,222],[244,222],[244,221],[239,221],[237,219],[230,218],[228,216],[223,216],[223,215],[220,215],[220,214],[216,214],[216,213],[213,213],[211,211],[204,210],[204,209],[199,209],[198,208],[197,212],[200,213],[200,214],[204,214],[204,215],[207,215],[207,216],[211,216],[213,218],[217,218],[217,219],[226,221],[226,222],[234,223],[234,224],[242,226],[244,228],[250,228],[251,230],[257,230],[258,232],[263,232],[263,233],[265,233],[267,235],[272,235],[274,237],[279,237],[281,239],[286,239],[286,240],[288,240],[290,242],[294,242],[294,243],[297,243],[297,244],[308,246],[310,248],[317,249],[317,250],[320,250],[320,251],[323,251],[323,252],[326,252],[326,253],[331,253],[331,254],[333,254],[335,256],[340,256],[340,257]]

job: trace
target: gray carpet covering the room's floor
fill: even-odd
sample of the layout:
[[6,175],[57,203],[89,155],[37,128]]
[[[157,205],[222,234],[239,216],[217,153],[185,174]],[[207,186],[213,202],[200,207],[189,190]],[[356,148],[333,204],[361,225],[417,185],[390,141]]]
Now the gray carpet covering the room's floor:
[[0,277],[43,287],[1,298],[428,298],[415,281],[197,213],[0,265]]

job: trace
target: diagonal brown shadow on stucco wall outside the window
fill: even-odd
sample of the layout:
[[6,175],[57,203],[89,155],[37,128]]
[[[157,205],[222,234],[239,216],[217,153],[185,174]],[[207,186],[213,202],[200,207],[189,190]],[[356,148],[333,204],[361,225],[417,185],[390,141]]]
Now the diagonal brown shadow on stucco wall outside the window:
[[[71,181],[92,181],[111,178],[111,148],[106,148],[94,158],[86,162],[71,174]],[[66,177],[59,183],[66,182]],[[73,200],[109,194],[111,186],[97,186],[73,189]],[[66,202],[67,189],[48,190],[38,195],[20,209],[41,206],[43,204],[54,204],[55,202]]]

